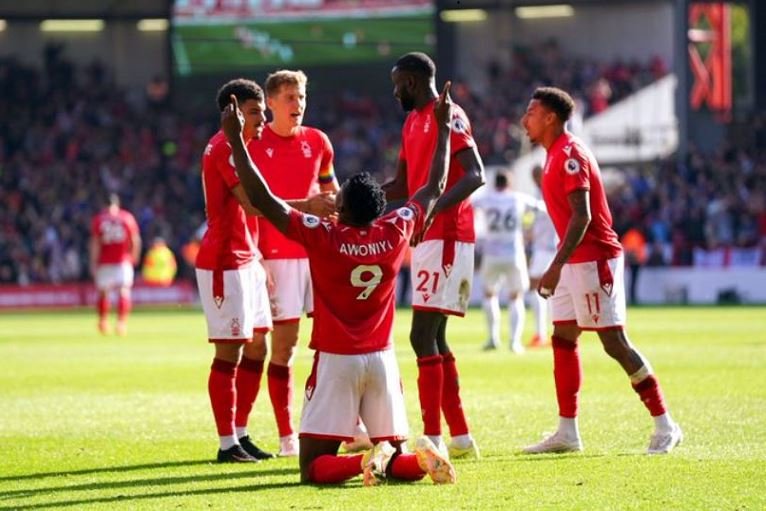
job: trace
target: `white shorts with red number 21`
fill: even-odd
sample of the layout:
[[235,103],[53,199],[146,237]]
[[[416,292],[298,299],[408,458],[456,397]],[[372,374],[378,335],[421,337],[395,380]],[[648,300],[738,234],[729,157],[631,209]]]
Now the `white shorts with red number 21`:
[[464,316],[473,283],[473,243],[428,240],[412,250],[412,308]]

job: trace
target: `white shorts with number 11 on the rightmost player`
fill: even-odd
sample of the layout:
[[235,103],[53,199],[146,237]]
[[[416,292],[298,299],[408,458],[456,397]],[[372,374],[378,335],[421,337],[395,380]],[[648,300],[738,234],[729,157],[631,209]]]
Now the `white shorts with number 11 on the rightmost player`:
[[625,325],[625,270],[614,259],[565,264],[558,287],[548,300],[553,324],[576,324],[583,330]]

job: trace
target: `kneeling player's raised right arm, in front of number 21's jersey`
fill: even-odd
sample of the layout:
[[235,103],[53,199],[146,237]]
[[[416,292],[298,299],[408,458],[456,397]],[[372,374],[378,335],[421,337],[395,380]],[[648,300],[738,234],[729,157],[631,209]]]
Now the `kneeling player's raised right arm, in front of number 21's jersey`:
[[439,94],[436,105],[434,105],[434,116],[439,131],[436,139],[436,150],[431,159],[431,169],[428,172],[428,181],[412,196],[413,201],[417,201],[423,206],[423,213],[426,218],[431,214],[436,201],[444,193],[444,188],[447,186],[450,122],[452,120],[452,98],[449,95],[451,85],[452,82],[450,81],[444,84],[444,90]]

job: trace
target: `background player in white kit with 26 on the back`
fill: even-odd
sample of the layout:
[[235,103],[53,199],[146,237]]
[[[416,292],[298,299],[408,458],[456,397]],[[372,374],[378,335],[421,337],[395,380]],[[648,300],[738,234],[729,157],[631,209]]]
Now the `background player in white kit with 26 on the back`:
[[484,311],[489,339],[485,350],[498,346],[500,338],[500,300],[498,292],[508,291],[511,343],[514,353],[523,353],[524,292],[529,289],[527,259],[524,253],[523,218],[528,210],[544,211],[542,202],[531,195],[511,190],[508,176],[498,172],[495,188],[478,198],[474,205],[486,218],[484,257],[481,276],[484,283]]

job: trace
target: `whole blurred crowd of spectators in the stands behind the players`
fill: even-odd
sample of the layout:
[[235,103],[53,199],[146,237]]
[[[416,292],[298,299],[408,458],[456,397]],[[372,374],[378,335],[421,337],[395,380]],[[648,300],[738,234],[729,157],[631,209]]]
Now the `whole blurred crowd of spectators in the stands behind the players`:
[[[88,279],[90,219],[109,192],[120,194],[145,240],[163,236],[180,254],[204,219],[199,165],[217,129],[212,108],[173,109],[162,80],[127,92],[104,65],[77,67],[61,48],[48,48],[44,62],[35,69],[0,60],[0,283]],[[507,69],[491,64],[486,91],[458,79],[453,95],[472,119],[485,163],[504,165],[519,155],[519,120],[534,87],[571,91],[588,116],[666,72],[659,58],[565,58],[549,41],[516,49]],[[402,118],[388,96],[309,97],[307,124],[330,136],[340,180],[360,169],[381,180],[392,175]],[[615,226],[620,234],[643,233],[649,264],[694,264],[695,248],[760,246],[766,253],[766,152],[758,149],[766,147],[766,116],[750,126],[749,137],[712,157],[692,150],[685,164],[626,169],[610,198]],[[180,274],[191,275],[188,265]]]

